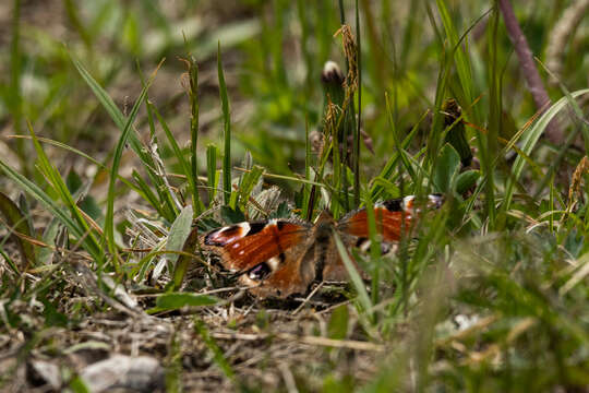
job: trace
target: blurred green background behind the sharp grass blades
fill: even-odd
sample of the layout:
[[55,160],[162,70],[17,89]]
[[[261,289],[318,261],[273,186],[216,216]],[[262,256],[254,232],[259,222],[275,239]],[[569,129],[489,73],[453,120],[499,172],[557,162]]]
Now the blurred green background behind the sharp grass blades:
[[[477,106],[484,118],[488,19],[473,23],[492,3],[447,3],[457,31],[472,28],[465,45],[472,62],[473,96],[481,97]],[[556,61],[561,81],[574,90],[587,84],[587,23],[580,21],[561,45],[560,58],[546,59],[553,28],[567,5],[568,1],[514,4],[533,53],[544,62]],[[312,129],[321,117],[324,62],[333,59],[344,68],[340,38],[334,37],[340,22],[336,1],[7,0],[0,7],[1,135],[27,134],[28,120],[39,135],[97,158],[111,150],[116,128],[77,75],[69,51],[123,111],[141,90],[139,68],[148,74],[165,58],[149,99],[165,114],[180,145],[189,140],[190,121],[180,58],[194,57],[201,69],[199,152],[204,164],[205,146],[217,143],[223,129],[215,62],[220,41],[235,123],[233,158],[239,163],[243,150],[249,150],[257,163],[278,174],[303,165],[305,122]],[[383,165],[394,146],[385,93],[394,124],[406,132],[433,107],[440,47],[447,43],[436,34],[443,27],[433,1],[363,0],[360,10],[362,121],[375,147],[374,155],[363,154],[370,171]],[[346,20],[354,25],[353,4],[348,4]],[[503,25],[498,38],[505,119],[501,133],[508,140],[536,108]],[[561,94],[554,84],[551,92]],[[426,122],[422,127],[426,129]],[[145,129],[144,116],[136,128]],[[2,138],[0,146],[28,171],[28,143]]]

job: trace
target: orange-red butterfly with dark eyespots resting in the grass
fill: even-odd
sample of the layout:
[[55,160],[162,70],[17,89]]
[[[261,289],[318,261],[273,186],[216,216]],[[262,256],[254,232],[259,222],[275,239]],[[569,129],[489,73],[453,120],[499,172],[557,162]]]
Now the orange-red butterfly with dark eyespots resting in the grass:
[[[424,204],[414,196],[376,203],[377,231],[385,243],[396,242],[414,227],[419,213],[438,209],[444,201],[431,194]],[[312,283],[346,281],[347,270],[336,248],[333,230],[347,248],[362,247],[369,237],[368,213],[360,209],[335,221],[327,212],[315,223],[298,219],[243,222],[213,229],[201,247],[220,257],[227,270],[260,298],[304,294]]]

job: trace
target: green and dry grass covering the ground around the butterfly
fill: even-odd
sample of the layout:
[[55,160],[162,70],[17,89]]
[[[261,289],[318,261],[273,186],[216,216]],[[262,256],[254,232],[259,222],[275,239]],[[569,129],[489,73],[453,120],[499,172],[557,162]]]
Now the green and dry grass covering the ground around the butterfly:
[[[168,391],[589,385],[581,38],[540,112],[494,2],[89,3],[53,11],[64,33],[19,0],[4,24],[2,390],[93,389],[112,354],[156,359]],[[541,73],[566,4],[514,3]],[[395,253],[369,216],[368,286],[345,254],[348,285],[260,301],[199,248],[431,192]]]

